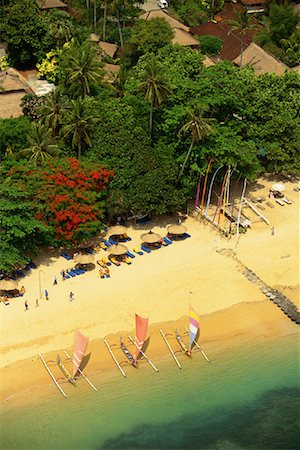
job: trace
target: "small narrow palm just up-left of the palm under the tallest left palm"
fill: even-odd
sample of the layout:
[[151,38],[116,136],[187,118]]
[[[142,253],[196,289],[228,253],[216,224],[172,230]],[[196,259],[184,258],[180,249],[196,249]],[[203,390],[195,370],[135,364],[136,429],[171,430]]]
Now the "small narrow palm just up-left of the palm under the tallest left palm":
[[50,94],[46,97],[46,102],[42,106],[41,111],[45,117],[45,123],[52,130],[53,136],[57,136],[58,134],[65,110],[66,105],[62,101],[59,90],[55,89],[50,92]]

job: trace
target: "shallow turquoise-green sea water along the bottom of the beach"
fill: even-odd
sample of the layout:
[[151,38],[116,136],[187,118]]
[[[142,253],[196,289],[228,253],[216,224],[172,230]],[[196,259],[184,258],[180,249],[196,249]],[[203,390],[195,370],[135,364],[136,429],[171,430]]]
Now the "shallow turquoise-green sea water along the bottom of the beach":
[[31,389],[2,407],[1,449],[299,449],[297,335],[209,356],[93,374],[98,392],[80,381],[67,400]]

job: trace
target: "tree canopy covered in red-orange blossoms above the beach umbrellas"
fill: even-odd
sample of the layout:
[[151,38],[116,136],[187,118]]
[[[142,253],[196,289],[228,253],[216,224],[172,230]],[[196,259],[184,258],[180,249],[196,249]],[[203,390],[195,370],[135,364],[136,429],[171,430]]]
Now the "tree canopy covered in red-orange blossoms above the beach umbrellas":
[[68,158],[48,163],[35,202],[36,218],[52,230],[49,243],[53,238],[55,243],[77,243],[100,229],[111,177],[113,171],[89,161]]

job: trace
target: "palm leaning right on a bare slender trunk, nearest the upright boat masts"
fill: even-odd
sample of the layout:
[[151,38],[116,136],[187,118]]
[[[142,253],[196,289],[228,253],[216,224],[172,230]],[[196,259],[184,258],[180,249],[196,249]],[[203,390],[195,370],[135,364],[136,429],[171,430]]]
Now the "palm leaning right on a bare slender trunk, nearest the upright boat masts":
[[188,121],[181,127],[179,134],[190,135],[192,138],[190,147],[185,155],[180,174],[183,174],[185,166],[189,160],[192,153],[192,149],[195,143],[204,142],[205,138],[213,132],[213,124],[216,122],[215,119],[203,117],[205,111],[208,108],[196,105],[192,109],[187,109]]

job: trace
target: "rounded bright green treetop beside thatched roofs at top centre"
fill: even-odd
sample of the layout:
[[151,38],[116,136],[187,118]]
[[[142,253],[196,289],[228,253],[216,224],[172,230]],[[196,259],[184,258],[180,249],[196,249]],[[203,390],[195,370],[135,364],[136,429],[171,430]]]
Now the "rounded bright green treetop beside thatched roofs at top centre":
[[161,18],[152,20],[138,20],[132,30],[130,42],[138,54],[153,52],[170,44],[174,32],[168,22]]

